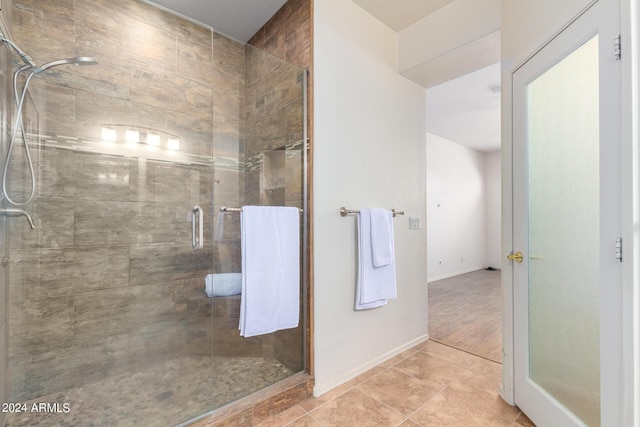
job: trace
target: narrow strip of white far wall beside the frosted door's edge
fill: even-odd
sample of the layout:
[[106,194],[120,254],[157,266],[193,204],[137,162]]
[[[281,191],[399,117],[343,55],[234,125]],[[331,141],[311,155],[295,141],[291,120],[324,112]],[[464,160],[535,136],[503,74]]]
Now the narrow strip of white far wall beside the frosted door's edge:
[[484,153],[484,184],[485,184],[485,265],[487,267],[502,268],[502,171],[501,152]]

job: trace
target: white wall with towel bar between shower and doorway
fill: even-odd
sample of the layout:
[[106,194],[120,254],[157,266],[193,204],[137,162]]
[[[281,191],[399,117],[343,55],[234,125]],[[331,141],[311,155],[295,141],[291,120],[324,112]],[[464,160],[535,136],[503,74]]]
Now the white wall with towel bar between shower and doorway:
[[[314,361],[322,394],[427,337],[425,89],[396,72],[396,34],[350,0],[314,6]],[[354,310],[356,217],[395,219],[398,299]],[[422,218],[409,230],[409,216]]]

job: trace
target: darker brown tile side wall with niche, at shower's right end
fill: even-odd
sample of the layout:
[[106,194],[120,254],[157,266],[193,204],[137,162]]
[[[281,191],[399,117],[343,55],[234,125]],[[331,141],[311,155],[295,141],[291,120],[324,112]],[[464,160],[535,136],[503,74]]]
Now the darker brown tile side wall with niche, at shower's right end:
[[[312,107],[313,84],[312,79],[312,55],[311,55],[311,0],[289,0],[285,5],[249,40],[249,44],[259,47],[282,60],[296,64],[309,71],[307,82],[309,111]],[[248,132],[248,140],[255,142],[248,149],[248,165],[254,168],[247,172],[248,194],[253,195],[254,202],[265,204],[285,204],[298,206],[296,201],[302,200],[301,192],[303,183],[300,181],[301,167],[301,142],[302,126],[299,118],[302,117],[301,100],[295,100],[295,92],[291,88],[291,81],[285,78],[290,72],[286,68],[278,68],[273,61],[261,60],[262,58],[247,55],[247,117],[256,120],[260,126],[256,126],[255,132]],[[273,92],[264,91],[263,87],[275,88],[278,94],[276,98]],[[278,99],[278,101],[274,101]],[[278,120],[280,119],[280,121]],[[313,115],[308,114],[308,135],[313,134]],[[287,125],[287,126],[285,126]],[[266,130],[265,132],[257,132]],[[309,148],[311,144],[309,144]],[[311,156],[309,150],[309,155]],[[253,161],[252,161],[253,160]],[[262,170],[255,167],[262,161]],[[309,160],[309,167],[312,162]],[[309,173],[309,175],[311,175]],[[309,213],[308,213],[309,214]],[[312,238],[312,236],[309,236]],[[306,248],[311,251],[311,247]],[[310,270],[308,271],[311,276]],[[312,310],[312,289],[310,283],[307,287],[307,304]],[[310,328],[311,315],[307,312],[307,328]],[[304,324],[303,321],[300,322]],[[305,332],[302,326],[298,329],[278,332],[275,339],[275,357],[293,371],[306,367],[312,372],[310,351],[303,361],[301,355],[295,349],[300,348],[306,333],[309,342],[312,342],[311,331]]]

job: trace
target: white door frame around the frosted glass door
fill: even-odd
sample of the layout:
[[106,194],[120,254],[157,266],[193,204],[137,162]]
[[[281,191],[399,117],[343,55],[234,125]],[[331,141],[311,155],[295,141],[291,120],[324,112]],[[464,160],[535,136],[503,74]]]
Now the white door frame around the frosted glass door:
[[[503,365],[500,394],[514,404],[514,300],[513,265],[506,256],[513,247],[513,74],[575,19],[560,28],[526,59],[502,73],[502,307]],[[622,240],[623,272],[619,339],[622,341],[620,384],[609,384],[610,400],[602,402],[602,414],[611,425],[640,426],[640,6],[636,0],[620,0],[622,66]],[[603,41],[606,42],[606,41]],[[613,41],[612,52],[613,52]],[[638,225],[635,225],[638,224]],[[612,390],[615,389],[615,390]],[[607,425],[607,424],[604,424]]]

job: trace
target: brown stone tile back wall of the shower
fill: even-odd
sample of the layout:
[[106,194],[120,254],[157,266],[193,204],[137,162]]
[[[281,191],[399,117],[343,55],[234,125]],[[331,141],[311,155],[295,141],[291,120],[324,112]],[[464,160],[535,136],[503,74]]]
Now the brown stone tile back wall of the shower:
[[[55,68],[32,81],[27,132],[38,186],[28,209],[37,229],[17,219],[10,225],[9,397],[34,398],[185,354],[274,357],[273,336],[239,337],[238,297],[203,294],[212,266],[240,271],[238,216],[226,215],[222,239],[211,236],[214,209],[255,200],[244,196],[254,190],[245,179],[249,159],[265,148],[279,152],[267,160],[277,170],[272,182],[282,162],[300,162],[287,153],[293,135],[282,145],[245,147],[252,87],[245,75],[254,75],[246,67],[271,60],[135,0],[14,0],[13,28],[37,63],[89,55],[99,65]],[[274,78],[277,85],[282,76]],[[294,110],[282,118],[294,121]],[[105,148],[104,124],[178,135],[180,150]],[[18,198],[28,188],[25,169],[11,174]],[[295,204],[287,194],[299,187],[285,179],[278,204]],[[194,205],[205,212],[198,253]]]

